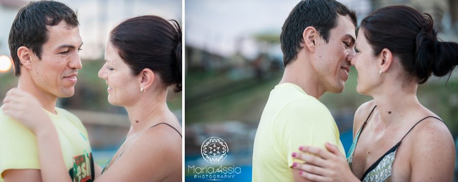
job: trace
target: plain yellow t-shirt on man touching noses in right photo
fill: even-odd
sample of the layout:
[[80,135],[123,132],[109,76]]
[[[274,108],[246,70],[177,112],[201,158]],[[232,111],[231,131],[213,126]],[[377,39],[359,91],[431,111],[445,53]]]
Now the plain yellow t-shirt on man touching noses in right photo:
[[299,146],[344,147],[329,110],[299,86],[282,83],[270,92],[254,138],[253,181],[293,181],[293,152]]

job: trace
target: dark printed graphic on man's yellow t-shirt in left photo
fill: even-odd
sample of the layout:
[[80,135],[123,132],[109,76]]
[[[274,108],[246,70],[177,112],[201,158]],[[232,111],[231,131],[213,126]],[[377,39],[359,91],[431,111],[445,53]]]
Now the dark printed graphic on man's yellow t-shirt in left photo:
[[83,155],[73,157],[73,167],[68,171],[74,182],[92,182],[94,180],[94,160],[92,153],[84,150]]

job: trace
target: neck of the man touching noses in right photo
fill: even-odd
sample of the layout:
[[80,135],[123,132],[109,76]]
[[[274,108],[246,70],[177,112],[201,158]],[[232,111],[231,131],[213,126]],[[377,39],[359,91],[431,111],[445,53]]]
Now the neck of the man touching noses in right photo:
[[322,88],[311,70],[306,70],[310,67],[303,64],[304,63],[299,63],[298,60],[291,62],[290,65],[284,69],[283,77],[279,84],[293,83],[301,87],[307,95],[320,99],[326,90]]

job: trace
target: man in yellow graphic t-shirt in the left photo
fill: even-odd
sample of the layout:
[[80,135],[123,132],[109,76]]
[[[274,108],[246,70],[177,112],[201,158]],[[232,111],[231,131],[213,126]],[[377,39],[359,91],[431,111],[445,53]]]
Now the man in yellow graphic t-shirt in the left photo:
[[[93,181],[88,133],[75,115],[55,107],[58,97],[74,94],[81,69],[78,25],[75,12],[62,3],[31,2],[14,19],[8,44],[17,87],[35,96],[50,116],[72,180]],[[37,138],[0,111],[0,181],[41,180]]]

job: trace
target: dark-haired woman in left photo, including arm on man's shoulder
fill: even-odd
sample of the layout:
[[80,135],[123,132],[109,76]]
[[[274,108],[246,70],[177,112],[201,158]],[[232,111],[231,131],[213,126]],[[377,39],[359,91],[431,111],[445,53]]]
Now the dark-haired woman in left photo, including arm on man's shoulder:
[[[97,181],[182,179],[181,126],[166,104],[170,85],[175,92],[182,89],[181,35],[177,21],[152,15],[127,19],[112,29],[105,50],[106,63],[98,75],[108,85],[108,102],[126,108],[131,127],[103,171],[100,167],[78,171],[95,172]],[[47,137],[46,142],[39,143],[41,154],[60,151],[54,126],[49,125],[43,110],[37,109],[41,106],[32,95],[12,89],[5,100],[11,101],[5,104],[9,115],[37,137]],[[24,110],[29,117],[19,114]],[[46,159],[40,161],[41,173],[53,175],[42,176],[53,178],[44,181],[70,180],[62,156]]]

